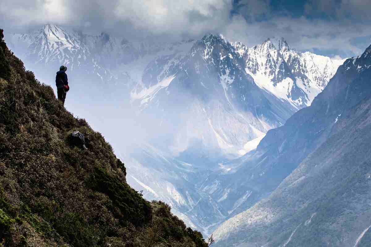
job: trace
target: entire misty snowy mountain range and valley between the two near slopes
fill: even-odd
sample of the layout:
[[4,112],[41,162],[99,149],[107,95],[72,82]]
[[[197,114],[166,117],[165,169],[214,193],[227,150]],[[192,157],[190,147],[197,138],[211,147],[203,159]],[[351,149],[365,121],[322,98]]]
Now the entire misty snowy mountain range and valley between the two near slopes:
[[203,233],[269,196],[296,168],[246,163],[264,159],[250,151],[311,105],[344,62],[296,51],[283,38],[254,47],[213,34],[132,43],[56,25],[8,36],[42,81],[53,86],[59,66],[69,68],[67,107],[91,111],[93,125],[109,123],[128,183]]

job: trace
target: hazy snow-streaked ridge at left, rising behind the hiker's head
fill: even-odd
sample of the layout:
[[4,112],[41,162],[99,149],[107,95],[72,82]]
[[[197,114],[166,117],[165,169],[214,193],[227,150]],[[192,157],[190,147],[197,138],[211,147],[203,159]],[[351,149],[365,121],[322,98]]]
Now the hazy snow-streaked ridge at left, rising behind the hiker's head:
[[49,69],[64,64],[70,71],[91,75],[96,83],[132,87],[140,83],[141,74],[150,61],[158,56],[181,53],[190,48],[187,44],[192,40],[168,44],[145,40],[131,43],[106,33],[88,35],[47,24],[32,33],[13,33],[7,42],[36,71],[40,70],[38,66]]

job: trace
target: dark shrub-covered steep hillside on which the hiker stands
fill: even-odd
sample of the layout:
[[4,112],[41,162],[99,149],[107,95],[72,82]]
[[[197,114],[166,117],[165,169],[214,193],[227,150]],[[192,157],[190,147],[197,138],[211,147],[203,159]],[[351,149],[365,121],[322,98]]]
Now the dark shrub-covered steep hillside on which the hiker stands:
[[[74,130],[87,151],[70,142]],[[0,30],[1,246],[207,246],[125,176],[102,135],[24,70]]]

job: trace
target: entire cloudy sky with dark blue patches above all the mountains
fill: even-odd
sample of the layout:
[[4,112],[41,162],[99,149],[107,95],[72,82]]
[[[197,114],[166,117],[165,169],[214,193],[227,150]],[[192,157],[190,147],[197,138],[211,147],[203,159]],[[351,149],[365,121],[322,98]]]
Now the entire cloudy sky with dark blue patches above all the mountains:
[[6,32],[44,24],[127,39],[222,33],[249,46],[282,36],[295,49],[342,58],[371,44],[369,0],[1,0]]

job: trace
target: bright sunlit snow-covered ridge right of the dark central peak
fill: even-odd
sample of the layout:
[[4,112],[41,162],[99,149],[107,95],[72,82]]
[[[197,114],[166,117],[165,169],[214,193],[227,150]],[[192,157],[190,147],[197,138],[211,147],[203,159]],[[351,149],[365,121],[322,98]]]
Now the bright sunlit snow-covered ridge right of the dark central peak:
[[290,49],[283,38],[268,38],[250,48],[240,42],[233,46],[246,60],[246,73],[259,87],[289,101],[296,109],[309,106],[345,61]]

